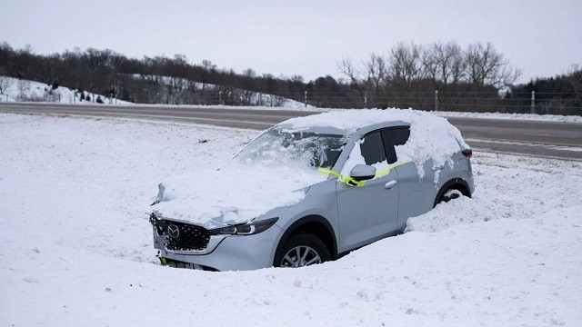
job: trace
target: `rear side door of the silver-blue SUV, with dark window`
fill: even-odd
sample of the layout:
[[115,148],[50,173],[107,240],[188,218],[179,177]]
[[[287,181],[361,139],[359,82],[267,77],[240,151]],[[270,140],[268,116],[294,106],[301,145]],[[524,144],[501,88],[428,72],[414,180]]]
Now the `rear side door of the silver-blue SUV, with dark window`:
[[[396,163],[395,146],[403,145],[410,136],[410,127],[398,126],[382,131],[386,144],[388,163]],[[403,158],[399,158],[402,160]],[[406,227],[406,221],[410,217],[426,213],[432,208],[435,193],[435,169],[433,161],[427,160],[423,165],[422,178],[418,174],[415,163],[406,163],[396,167],[399,184],[398,198],[398,229]]]

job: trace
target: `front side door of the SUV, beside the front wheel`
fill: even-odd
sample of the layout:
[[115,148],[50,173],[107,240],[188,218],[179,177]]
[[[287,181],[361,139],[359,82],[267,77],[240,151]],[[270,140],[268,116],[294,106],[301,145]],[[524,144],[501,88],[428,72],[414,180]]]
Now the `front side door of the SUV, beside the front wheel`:
[[[366,134],[355,144],[350,156],[360,155],[376,169],[386,167],[386,148],[379,131]],[[354,163],[347,160],[346,164]],[[342,172],[348,174],[352,167]],[[352,186],[338,181],[336,199],[339,219],[340,252],[374,242],[397,227],[398,178],[395,170]]]

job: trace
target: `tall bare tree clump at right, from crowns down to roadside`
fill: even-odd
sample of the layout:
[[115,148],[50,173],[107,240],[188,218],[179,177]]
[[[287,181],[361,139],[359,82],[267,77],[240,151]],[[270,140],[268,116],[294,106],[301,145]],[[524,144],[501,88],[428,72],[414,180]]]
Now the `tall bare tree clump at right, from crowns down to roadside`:
[[[370,54],[357,66],[344,59],[339,70],[366,106],[432,109],[439,102],[441,110],[462,110],[477,99],[501,100],[499,92],[521,74],[491,44],[463,50],[456,42],[440,41],[431,45],[400,42],[388,54]],[[436,100],[435,91],[442,99]]]

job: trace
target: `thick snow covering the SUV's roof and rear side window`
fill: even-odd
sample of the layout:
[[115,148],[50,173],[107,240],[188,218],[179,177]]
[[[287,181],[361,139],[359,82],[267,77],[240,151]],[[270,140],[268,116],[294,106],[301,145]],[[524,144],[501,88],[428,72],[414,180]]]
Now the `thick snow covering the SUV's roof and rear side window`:
[[[434,167],[453,164],[450,162],[451,155],[469,148],[457,127],[448,123],[446,118],[413,109],[354,109],[293,118],[281,124],[291,125],[298,131],[329,127],[353,134],[358,128],[383,122],[410,124],[410,137],[406,144],[396,146],[396,156],[398,162],[415,163],[421,178],[424,177],[423,164],[427,160],[432,159]],[[359,147],[355,146],[354,151],[359,152]],[[353,166],[355,159],[352,156],[358,155],[350,155],[349,163]],[[363,158],[361,163],[364,163]],[[344,167],[343,172],[349,168]]]

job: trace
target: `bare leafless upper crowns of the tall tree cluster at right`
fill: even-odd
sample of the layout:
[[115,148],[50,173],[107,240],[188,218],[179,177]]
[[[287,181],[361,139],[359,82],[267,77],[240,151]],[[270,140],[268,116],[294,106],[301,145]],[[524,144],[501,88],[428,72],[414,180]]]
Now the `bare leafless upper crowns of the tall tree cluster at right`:
[[425,46],[398,43],[386,56],[370,54],[360,67],[344,59],[339,70],[351,84],[375,92],[425,80],[434,87],[474,84],[500,90],[514,84],[521,75],[490,43],[469,45],[464,51],[456,42],[440,41]]

